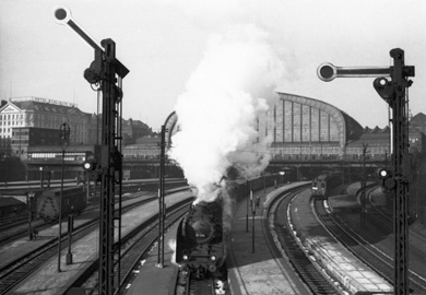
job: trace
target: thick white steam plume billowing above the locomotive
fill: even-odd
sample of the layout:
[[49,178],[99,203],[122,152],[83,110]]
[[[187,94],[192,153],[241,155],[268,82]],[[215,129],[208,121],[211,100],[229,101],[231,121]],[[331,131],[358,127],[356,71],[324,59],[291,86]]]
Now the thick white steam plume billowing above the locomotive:
[[274,88],[283,72],[268,34],[256,25],[233,25],[210,38],[178,97],[180,131],[169,152],[202,200],[216,197],[230,165],[246,177],[259,175],[268,165],[265,143],[257,143],[256,118],[268,109],[268,101],[276,98]]

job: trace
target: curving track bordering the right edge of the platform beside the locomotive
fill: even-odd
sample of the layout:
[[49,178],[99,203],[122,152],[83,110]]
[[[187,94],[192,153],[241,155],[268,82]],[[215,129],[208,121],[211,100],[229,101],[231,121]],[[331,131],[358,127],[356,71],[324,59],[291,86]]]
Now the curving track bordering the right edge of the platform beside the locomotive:
[[293,268],[309,290],[313,294],[336,294],[340,290],[324,276],[326,274],[321,270],[312,264],[293,235],[289,224],[291,203],[303,190],[306,188],[286,193],[271,205],[270,227],[274,228],[280,247],[285,251]]

